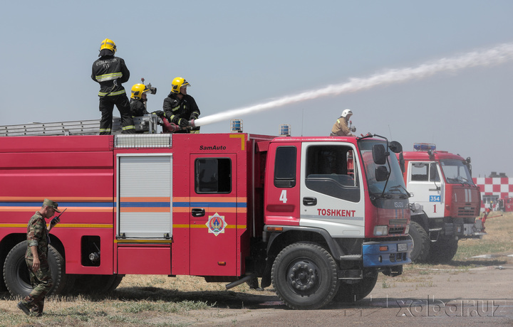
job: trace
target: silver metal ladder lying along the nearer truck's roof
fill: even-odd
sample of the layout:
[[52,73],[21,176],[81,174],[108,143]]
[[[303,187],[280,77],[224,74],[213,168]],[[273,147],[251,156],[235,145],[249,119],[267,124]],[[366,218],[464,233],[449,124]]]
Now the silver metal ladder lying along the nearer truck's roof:
[[[155,114],[133,117],[135,132],[156,134],[159,124]],[[112,134],[121,134],[121,118],[113,118]],[[29,123],[0,126],[0,136],[39,136],[39,135],[98,135],[100,119],[77,120],[72,122]]]

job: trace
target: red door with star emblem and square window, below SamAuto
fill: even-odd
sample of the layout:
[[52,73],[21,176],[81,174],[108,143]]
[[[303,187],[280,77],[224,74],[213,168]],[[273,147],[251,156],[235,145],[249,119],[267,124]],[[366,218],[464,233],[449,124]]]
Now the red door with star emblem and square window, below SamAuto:
[[236,154],[190,156],[190,274],[234,276],[237,259]]

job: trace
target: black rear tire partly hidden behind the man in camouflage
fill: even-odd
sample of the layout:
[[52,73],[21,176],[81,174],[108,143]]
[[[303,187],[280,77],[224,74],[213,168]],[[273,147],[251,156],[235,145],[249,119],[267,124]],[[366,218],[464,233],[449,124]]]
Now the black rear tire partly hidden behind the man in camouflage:
[[[18,243],[7,254],[4,262],[4,282],[12,296],[26,296],[32,291],[28,268],[25,262],[26,241]],[[53,286],[47,296],[60,294],[66,284],[64,259],[55,247],[48,245],[48,264]]]

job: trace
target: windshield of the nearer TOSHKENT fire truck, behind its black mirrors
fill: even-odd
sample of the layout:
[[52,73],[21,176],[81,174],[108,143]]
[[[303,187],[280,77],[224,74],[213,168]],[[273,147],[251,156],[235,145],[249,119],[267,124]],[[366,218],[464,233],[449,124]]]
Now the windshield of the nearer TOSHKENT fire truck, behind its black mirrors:
[[[375,178],[375,168],[378,167],[377,164],[374,163],[372,148],[374,144],[383,144],[386,147],[385,141],[375,141],[364,139],[358,142],[360,146],[360,153],[363,158],[363,165],[365,166],[367,183],[369,188],[369,193],[376,196],[381,196],[382,194],[391,197],[397,195],[399,198],[408,197],[408,192],[406,191],[405,183],[403,180],[403,173],[400,170],[399,162],[397,156],[393,154],[391,151],[388,156],[388,163],[385,164],[385,167],[388,169],[388,164],[390,164],[390,177],[387,181],[376,181]],[[386,185],[386,188],[385,188]],[[385,190],[383,190],[385,188]],[[384,191],[384,192],[383,192]]]

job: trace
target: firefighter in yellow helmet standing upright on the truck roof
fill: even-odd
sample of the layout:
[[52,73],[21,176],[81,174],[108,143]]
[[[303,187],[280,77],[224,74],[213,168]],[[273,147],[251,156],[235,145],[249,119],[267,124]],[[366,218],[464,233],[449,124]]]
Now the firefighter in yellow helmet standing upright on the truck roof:
[[130,104],[122,85],[128,82],[130,71],[125,65],[125,60],[114,56],[116,51],[114,41],[105,38],[100,45],[100,58],[93,63],[91,78],[100,83],[100,135],[109,135],[112,132],[114,105],[118,107],[121,115],[123,134],[135,133]]

